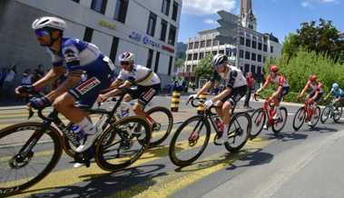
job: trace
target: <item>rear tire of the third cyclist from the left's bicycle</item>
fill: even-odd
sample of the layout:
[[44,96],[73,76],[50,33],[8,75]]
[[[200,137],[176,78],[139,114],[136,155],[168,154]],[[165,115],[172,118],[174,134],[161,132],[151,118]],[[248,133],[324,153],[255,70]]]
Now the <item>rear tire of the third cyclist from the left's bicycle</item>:
[[[238,122],[237,120],[239,120],[239,117],[241,116],[244,116],[246,119],[247,119],[247,127],[246,127],[246,130],[242,129],[241,126],[240,126],[240,122]],[[237,128],[237,125],[236,124],[239,124],[239,128]],[[237,145],[237,146],[232,146],[232,144],[230,144],[230,142],[226,142],[224,144],[225,148],[231,152],[231,153],[237,153],[241,150],[241,148],[247,143],[247,140],[249,139],[249,136],[250,136],[250,131],[251,131],[251,116],[247,113],[241,113],[241,114],[234,114],[234,116],[232,116],[231,118],[231,123],[229,124],[229,128],[227,129],[227,134],[229,135],[229,138],[231,137],[230,135],[230,130],[231,130],[231,126],[235,127],[235,137],[237,137],[238,135],[240,134],[244,134],[244,140],[241,144]],[[234,137],[234,139],[235,139]]]

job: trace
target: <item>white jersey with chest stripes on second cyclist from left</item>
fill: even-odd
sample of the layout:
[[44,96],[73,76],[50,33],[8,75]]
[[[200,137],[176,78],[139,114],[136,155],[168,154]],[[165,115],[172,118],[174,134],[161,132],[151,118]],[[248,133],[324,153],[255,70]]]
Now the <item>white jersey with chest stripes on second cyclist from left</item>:
[[117,79],[122,81],[129,81],[132,84],[151,86],[154,84],[160,84],[160,78],[151,69],[142,66],[140,64],[134,64],[133,70],[128,72],[124,69],[118,74]]

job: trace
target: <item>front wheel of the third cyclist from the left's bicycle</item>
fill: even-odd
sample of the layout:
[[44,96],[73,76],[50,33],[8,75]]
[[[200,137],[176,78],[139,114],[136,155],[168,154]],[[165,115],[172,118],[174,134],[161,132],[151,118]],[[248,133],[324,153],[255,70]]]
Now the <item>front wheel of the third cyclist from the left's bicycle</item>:
[[196,161],[209,143],[211,124],[203,115],[196,115],[180,125],[172,136],[169,156],[175,165],[187,166]]

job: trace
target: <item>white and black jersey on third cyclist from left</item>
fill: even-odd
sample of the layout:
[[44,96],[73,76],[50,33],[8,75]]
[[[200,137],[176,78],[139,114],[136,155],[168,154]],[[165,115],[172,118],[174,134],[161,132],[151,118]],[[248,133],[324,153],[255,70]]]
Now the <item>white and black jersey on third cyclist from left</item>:
[[216,78],[220,76],[223,80],[226,81],[227,87],[229,88],[238,88],[247,85],[246,78],[245,76],[243,76],[240,69],[231,65],[227,66],[229,68],[227,74],[218,74],[217,71],[214,71],[211,74],[211,83],[215,83]]

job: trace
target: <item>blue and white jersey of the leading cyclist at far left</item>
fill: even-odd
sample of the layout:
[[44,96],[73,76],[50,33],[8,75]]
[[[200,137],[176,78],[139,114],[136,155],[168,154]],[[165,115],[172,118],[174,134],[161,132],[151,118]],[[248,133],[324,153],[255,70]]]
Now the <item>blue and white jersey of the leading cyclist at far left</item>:
[[82,70],[88,75],[98,75],[111,73],[114,69],[110,59],[96,45],[77,38],[64,37],[60,52],[56,53],[51,48],[48,52],[54,66],[64,65],[69,72]]

